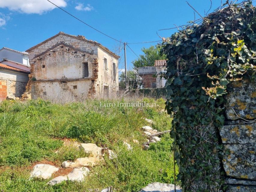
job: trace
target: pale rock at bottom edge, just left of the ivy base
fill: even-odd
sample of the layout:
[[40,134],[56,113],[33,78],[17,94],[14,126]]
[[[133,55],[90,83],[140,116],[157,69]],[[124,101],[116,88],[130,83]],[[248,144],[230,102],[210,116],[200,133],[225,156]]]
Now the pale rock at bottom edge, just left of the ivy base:
[[[174,192],[174,185],[158,182],[150,183],[148,186],[142,188],[140,192]],[[176,186],[176,192],[182,192],[179,186]]]

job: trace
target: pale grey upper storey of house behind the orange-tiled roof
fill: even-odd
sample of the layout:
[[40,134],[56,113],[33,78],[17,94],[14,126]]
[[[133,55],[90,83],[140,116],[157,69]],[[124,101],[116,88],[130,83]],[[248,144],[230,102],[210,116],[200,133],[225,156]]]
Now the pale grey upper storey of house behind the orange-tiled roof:
[[29,54],[27,52],[16,51],[7,47],[0,49],[0,61],[8,59],[17,63],[29,66]]

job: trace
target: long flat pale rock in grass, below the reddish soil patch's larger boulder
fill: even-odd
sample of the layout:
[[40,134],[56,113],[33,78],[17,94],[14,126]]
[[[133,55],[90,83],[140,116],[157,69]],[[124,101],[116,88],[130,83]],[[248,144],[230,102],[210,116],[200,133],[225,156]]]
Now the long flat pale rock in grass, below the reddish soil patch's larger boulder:
[[75,161],[64,161],[62,163],[62,167],[63,168],[94,167],[95,165],[98,165],[101,162],[104,162],[103,158],[85,157],[85,158],[78,158]]

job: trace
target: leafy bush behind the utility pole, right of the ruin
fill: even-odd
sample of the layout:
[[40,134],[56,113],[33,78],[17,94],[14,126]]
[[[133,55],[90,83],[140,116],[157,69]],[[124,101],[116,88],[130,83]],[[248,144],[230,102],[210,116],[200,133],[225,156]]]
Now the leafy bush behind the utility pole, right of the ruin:
[[[128,89],[136,89],[138,86],[142,85],[141,78],[138,77],[138,73],[134,70],[127,71],[127,82]],[[121,90],[125,89],[125,72],[119,75],[119,87]]]

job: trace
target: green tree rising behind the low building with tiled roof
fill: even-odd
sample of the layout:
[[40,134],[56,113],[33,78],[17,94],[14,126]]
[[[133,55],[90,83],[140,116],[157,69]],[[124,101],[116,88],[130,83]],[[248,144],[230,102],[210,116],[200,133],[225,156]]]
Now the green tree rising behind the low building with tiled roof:
[[160,53],[161,46],[150,46],[149,48],[143,47],[141,50],[144,53],[144,55],[140,55],[140,58],[132,61],[134,68],[154,66],[155,60],[166,59],[166,55]]

